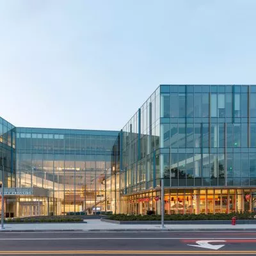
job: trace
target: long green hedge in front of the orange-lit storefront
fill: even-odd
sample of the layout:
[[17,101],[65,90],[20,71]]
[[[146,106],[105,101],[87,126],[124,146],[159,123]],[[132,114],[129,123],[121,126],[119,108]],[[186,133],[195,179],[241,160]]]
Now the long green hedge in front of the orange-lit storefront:
[[[165,215],[164,220],[231,220],[236,216],[237,220],[256,219],[255,213],[232,212],[230,214],[171,214]],[[109,220],[118,221],[160,221],[161,215],[125,215],[116,214],[108,217]]]

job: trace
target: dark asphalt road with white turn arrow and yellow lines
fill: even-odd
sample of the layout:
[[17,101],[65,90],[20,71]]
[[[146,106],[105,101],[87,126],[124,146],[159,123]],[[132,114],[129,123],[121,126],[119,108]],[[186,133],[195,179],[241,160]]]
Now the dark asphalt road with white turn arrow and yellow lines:
[[216,254],[256,255],[256,232],[0,232],[0,255]]

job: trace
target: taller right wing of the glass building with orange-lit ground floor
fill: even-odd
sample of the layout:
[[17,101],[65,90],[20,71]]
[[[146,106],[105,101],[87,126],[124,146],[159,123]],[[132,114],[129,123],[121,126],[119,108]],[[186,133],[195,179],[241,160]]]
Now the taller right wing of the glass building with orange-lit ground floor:
[[[129,195],[125,211],[145,214],[145,208],[160,213],[160,203],[156,200],[154,206],[154,196],[160,196],[161,181],[166,193],[177,188],[168,192],[170,195],[177,191],[186,196],[184,189],[191,189],[191,196],[203,190],[210,191],[207,195],[214,196],[212,191],[218,191],[222,196],[221,189],[242,188],[236,192],[236,204],[243,205],[247,193],[243,188],[256,186],[255,99],[256,86],[250,85],[159,86],[121,131],[120,171],[124,182],[120,192]],[[138,195],[132,196],[136,191]],[[174,200],[175,204],[188,212],[182,196]],[[214,200],[210,198],[205,196],[205,204]],[[218,212],[211,207],[203,211],[201,203],[198,201],[197,210],[190,212]],[[131,204],[136,205],[132,210]],[[177,213],[171,211],[172,207],[170,204],[166,212]],[[252,204],[249,208],[243,205],[236,209],[252,211]]]

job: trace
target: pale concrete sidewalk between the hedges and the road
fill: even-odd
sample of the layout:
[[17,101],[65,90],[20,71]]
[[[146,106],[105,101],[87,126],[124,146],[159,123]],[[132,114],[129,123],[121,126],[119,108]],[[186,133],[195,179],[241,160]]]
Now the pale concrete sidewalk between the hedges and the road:
[[[107,223],[100,220],[86,220],[87,223],[21,223],[4,224],[5,230],[0,232],[60,232],[60,231],[159,231],[160,225],[120,225]],[[185,231],[185,230],[256,230],[256,224],[232,225],[165,225],[166,231]]]

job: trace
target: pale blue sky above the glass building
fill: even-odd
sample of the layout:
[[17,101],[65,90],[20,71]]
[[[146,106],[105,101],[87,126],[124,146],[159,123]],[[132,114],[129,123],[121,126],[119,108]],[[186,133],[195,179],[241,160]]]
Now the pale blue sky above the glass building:
[[0,116],[120,130],[159,84],[256,84],[255,0],[0,0]]

